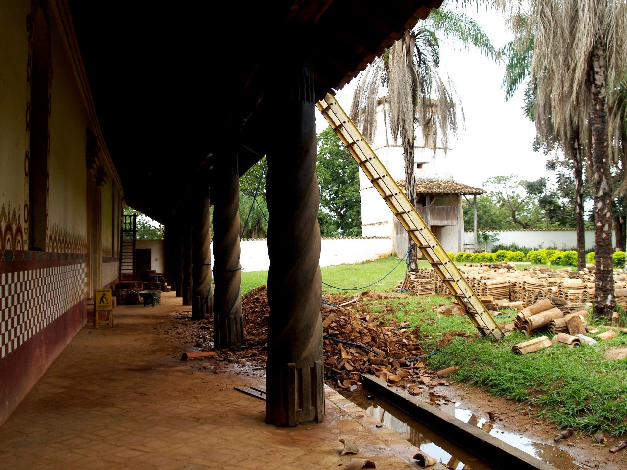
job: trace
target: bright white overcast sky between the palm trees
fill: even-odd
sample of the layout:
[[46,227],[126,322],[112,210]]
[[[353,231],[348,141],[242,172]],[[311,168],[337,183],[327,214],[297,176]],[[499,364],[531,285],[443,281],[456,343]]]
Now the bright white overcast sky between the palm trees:
[[[493,11],[466,11],[488,33],[495,47],[510,39],[503,16]],[[466,116],[466,127],[460,130],[458,142],[451,142],[451,151],[441,164],[450,170],[457,182],[482,187],[492,176],[517,174],[534,180],[547,175],[547,157],[534,152],[534,124],[522,112],[523,91],[509,101],[501,88],[502,64],[478,56],[474,50],[459,51],[441,41],[441,75],[446,71],[456,85]],[[351,82],[352,83],[352,82]],[[337,93],[345,110],[352,100],[351,84]],[[317,130],[327,127],[318,115]]]

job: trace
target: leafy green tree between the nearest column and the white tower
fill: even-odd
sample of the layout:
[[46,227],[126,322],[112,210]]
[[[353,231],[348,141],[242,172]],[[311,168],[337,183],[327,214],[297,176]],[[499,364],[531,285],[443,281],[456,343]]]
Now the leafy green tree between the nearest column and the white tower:
[[320,185],[318,222],[322,236],[361,236],[359,167],[330,127],[318,135],[316,172]]

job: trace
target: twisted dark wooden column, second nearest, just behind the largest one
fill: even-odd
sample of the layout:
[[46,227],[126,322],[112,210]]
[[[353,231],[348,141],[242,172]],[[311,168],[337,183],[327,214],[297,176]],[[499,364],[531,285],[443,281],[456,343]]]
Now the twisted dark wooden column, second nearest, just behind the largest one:
[[227,348],[241,342],[240,175],[236,158],[214,168],[213,279],[214,343]]

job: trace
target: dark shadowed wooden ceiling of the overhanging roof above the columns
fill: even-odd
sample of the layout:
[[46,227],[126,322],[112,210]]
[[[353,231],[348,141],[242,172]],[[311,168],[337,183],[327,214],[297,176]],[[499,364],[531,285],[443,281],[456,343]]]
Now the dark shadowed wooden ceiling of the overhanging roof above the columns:
[[166,222],[211,159],[240,152],[241,172],[254,164],[280,61],[311,63],[320,99],[441,2],[68,0],[127,204]]

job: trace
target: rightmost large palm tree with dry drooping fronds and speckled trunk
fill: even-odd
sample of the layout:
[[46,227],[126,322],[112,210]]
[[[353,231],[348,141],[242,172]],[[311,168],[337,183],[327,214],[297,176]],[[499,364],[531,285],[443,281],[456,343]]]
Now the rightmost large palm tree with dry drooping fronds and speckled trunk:
[[[627,4],[624,0],[530,0],[527,37],[534,48],[530,73],[540,128],[564,130],[562,144],[591,135],[594,174],[594,314],[614,310],[611,152],[608,103],[627,68]],[[550,117],[550,121],[546,119]],[[536,117],[536,126],[539,118]],[[577,131],[576,134],[575,132]],[[542,130],[540,132],[543,132]],[[547,131],[548,133],[548,131]]]

